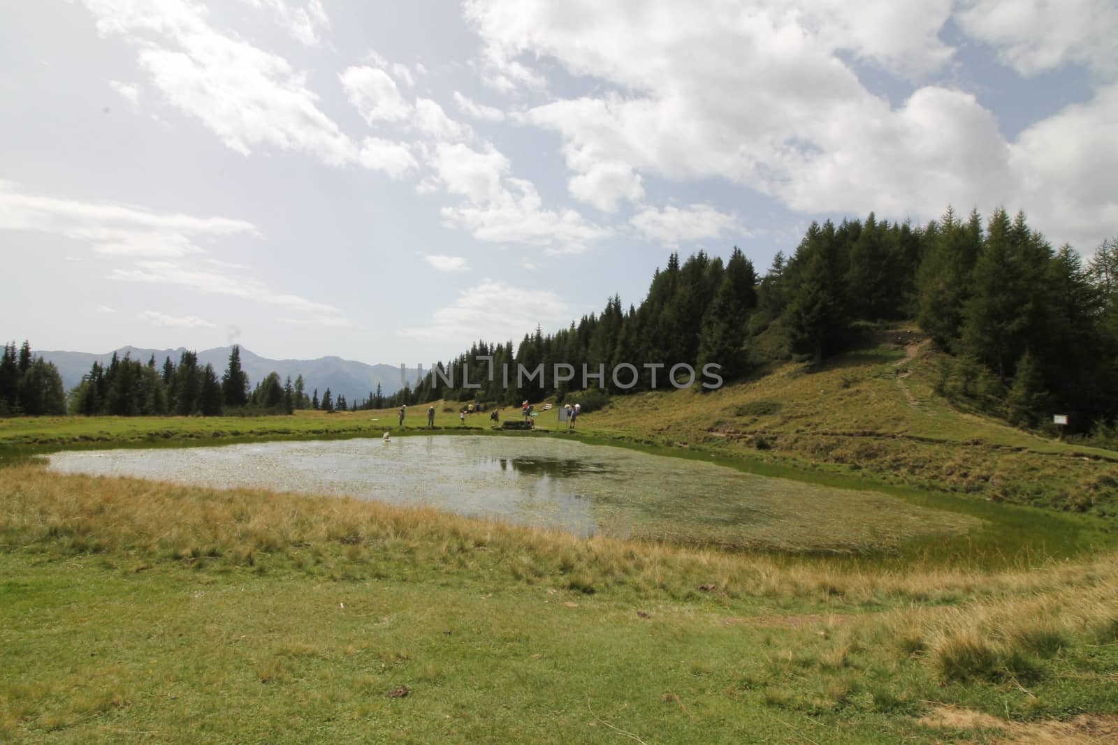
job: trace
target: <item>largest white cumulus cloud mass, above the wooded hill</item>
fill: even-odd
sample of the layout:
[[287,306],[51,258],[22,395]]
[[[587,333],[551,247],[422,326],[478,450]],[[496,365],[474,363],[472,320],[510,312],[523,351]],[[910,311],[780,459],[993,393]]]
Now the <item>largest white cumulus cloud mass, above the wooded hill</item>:
[[[1051,216],[1057,239],[1111,232],[1118,194],[1100,180],[1118,137],[1099,126],[1118,70],[1118,7],[968,0],[957,10],[965,34],[1023,75],[1087,66],[1095,97],[1008,137],[978,97],[940,82],[961,64],[940,36],[949,0],[465,4],[483,78],[524,88],[558,65],[591,82],[574,96],[534,93],[543,103],[515,118],[560,136],[571,197],[598,209],[639,203],[643,176],[656,175],[719,180],[804,212],[920,219],[948,203],[1002,203]],[[871,90],[868,69],[907,93]],[[1080,157],[1079,141],[1093,159]],[[1073,152],[1059,159],[1041,142]]]

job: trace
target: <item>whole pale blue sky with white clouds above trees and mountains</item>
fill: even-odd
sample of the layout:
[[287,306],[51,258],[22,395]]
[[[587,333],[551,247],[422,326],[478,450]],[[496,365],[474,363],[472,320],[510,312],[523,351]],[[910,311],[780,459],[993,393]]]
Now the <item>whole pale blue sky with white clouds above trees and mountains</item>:
[[1112,0],[0,3],[0,334],[429,362],[813,219],[1118,232]]

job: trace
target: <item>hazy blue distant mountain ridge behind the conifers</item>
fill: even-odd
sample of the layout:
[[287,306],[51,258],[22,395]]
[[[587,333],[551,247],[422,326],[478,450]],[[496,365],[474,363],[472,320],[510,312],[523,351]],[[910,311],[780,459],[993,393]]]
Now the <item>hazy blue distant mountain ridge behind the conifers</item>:
[[[122,346],[115,350],[116,354],[121,357],[129,354],[133,360],[142,362],[146,362],[154,354],[155,364],[159,369],[163,367],[163,361],[167,357],[171,357],[171,362],[178,364],[183,351],[184,347],[181,346],[176,350],[143,350],[135,346]],[[214,365],[214,370],[217,371],[220,378],[221,373],[225,372],[226,365],[229,363],[229,353],[231,351],[233,346],[218,346],[212,350],[201,351],[198,353],[198,364]],[[46,361],[55,363],[55,366],[58,367],[58,374],[61,375],[63,385],[67,391],[82,382],[82,376],[89,372],[89,367],[93,366],[95,361],[107,364],[113,357],[113,352],[95,354],[92,352],[35,351],[35,354],[41,355]],[[285,380],[291,375],[292,381],[294,381],[297,375],[303,375],[307,395],[311,395],[318,389],[319,397],[321,398],[323,392],[329,388],[335,401],[338,395],[342,394],[351,403],[361,401],[370,392],[375,392],[377,383],[380,383],[381,393],[385,395],[395,393],[402,388],[399,366],[388,364],[370,365],[364,362],[343,360],[337,356],[319,357],[316,360],[269,360],[254,354],[241,346],[240,366],[248,374],[248,380],[254,388],[273,371],[278,373],[281,380]],[[409,382],[415,382],[418,371],[415,367],[407,367],[405,374]]]

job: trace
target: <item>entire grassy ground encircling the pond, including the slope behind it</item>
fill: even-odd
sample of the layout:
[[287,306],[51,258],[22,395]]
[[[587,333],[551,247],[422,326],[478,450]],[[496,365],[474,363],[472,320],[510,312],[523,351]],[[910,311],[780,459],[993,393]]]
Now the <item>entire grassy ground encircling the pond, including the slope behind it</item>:
[[[844,554],[579,538],[37,457],[399,437],[427,431],[426,405],[402,430],[395,411],[0,420],[0,741],[1115,742],[1118,453],[958,411],[935,369],[901,348],[789,364],[617,399],[575,433],[436,405],[440,434],[578,438],[977,525]],[[837,499],[827,517],[850,519]]]

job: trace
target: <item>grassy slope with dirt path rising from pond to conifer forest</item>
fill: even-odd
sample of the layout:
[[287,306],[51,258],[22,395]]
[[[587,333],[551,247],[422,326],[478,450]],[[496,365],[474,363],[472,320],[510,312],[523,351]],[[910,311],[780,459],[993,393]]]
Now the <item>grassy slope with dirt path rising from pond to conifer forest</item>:
[[960,411],[935,392],[927,343],[787,363],[714,392],[620,397],[580,429],[797,469],[1118,516],[1118,452]]

